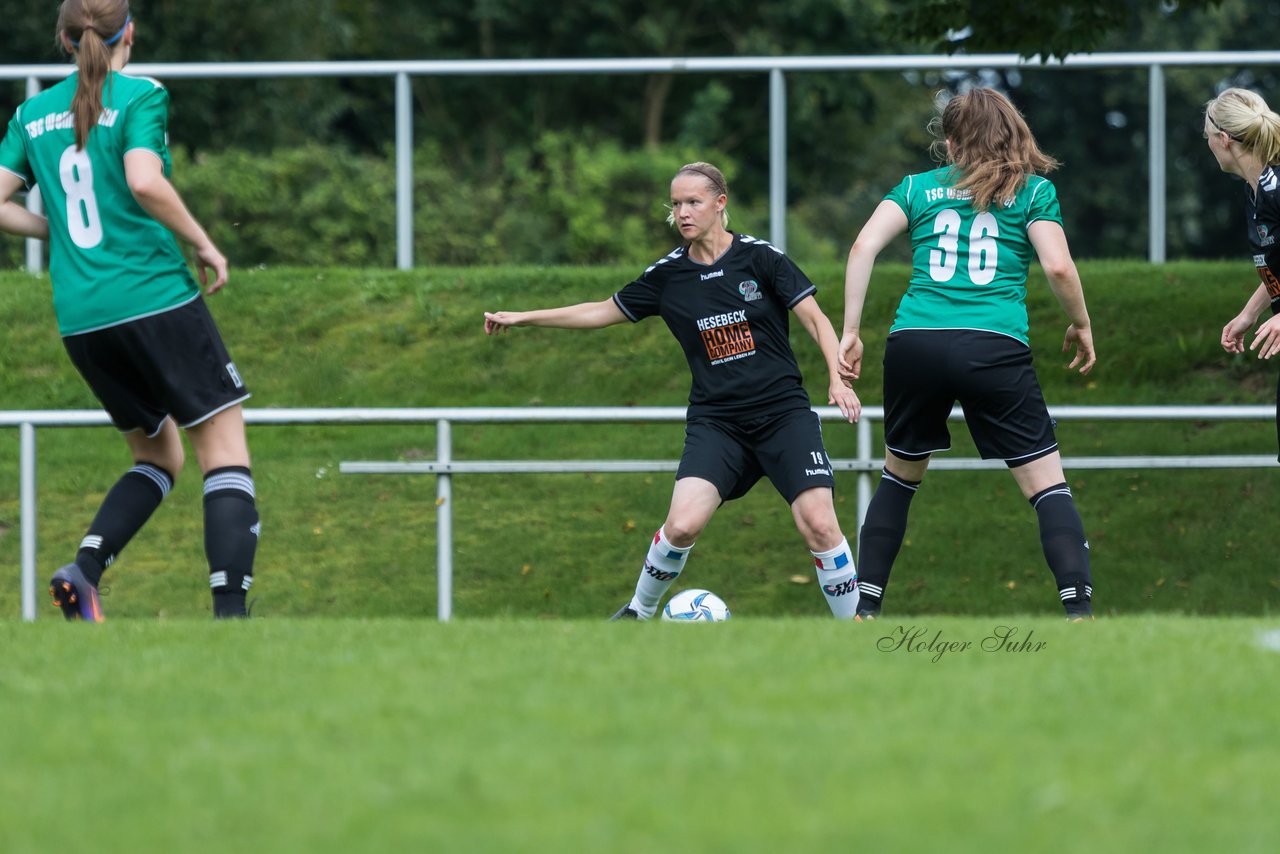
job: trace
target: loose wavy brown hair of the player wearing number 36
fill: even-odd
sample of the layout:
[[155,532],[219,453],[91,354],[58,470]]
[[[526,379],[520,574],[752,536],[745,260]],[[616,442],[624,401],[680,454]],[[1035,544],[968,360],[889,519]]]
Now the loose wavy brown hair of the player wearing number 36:
[[1059,163],[1039,150],[1027,119],[993,88],[956,95],[929,122],[934,140],[929,150],[950,163],[959,175],[956,189],[973,193],[973,206],[987,210],[1012,198],[1036,173]]

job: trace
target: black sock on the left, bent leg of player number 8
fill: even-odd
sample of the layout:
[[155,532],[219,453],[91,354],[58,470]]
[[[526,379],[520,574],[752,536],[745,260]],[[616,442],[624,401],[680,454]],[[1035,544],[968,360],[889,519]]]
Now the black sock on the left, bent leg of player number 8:
[[146,525],[170,489],[173,476],[150,462],[140,462],[115,481],[76,553],[76,566],[90,584],[99,585],[102,572]]

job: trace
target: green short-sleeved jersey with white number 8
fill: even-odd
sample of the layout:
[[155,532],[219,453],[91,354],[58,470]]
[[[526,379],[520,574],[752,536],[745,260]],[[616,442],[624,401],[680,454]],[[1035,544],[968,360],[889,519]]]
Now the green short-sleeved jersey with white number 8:
[[169,174],[169,93],[154,79],[113,72],[97,125],[77,151],[69,109],[78,77],[19,106],[0,142],[0,169],[40,187],[64,335],[157,314],[200,293],[173,233],[142,210],[124,179],[124,154],[136,149],[160,157]]

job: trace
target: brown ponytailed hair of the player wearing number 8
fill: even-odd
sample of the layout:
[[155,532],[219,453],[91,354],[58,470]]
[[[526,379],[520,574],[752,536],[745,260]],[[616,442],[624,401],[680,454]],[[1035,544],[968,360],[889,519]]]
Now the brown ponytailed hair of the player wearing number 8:
[[102,85],[111,76],[111,44],[124,33],[128,20],[129,0],[63,0],[58,9],[54,40],[64,50],[63,37],[70,41],[79,69],[70,109],[77,149],[88,142],[88,132],[102,114]]

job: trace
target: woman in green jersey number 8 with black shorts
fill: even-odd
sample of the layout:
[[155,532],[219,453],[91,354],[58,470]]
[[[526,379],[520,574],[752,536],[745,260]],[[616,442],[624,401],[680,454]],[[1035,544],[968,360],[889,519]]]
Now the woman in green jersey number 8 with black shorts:
[[[182,426],[205,475],[214,613],[243,616],[259,533],[248,391],[174,236],[195,247],[206,293],[227,283],[227,259],[168,181],[169,95],[124,73],[133,35],[127,0],[65,0],[56,38],[77,69],[23,102],[0,141],[0,228],[47,236],[63,343],[134,463],[50,593],[68,620],[102,618],[99,581],[173,487]],[[24,186],[40,187],[47,224],[10,201]]]

